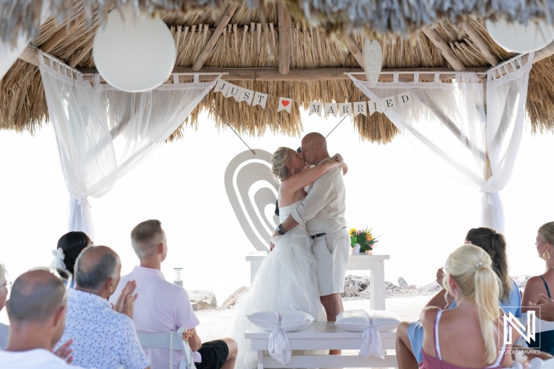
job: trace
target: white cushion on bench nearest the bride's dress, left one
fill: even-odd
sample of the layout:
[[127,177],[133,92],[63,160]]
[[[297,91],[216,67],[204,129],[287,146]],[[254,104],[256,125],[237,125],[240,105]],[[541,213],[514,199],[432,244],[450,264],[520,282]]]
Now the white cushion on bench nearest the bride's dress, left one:
[[258,310],[247,315],[247,318],[253,325],[262,328],[262,330],[274,331],[279,327],[279,315],[281,316],[280,327],[285,332],[303,330],[314,321],[314,317],[310,314],[296,310],[284,310],[282,312],[278,310]]

